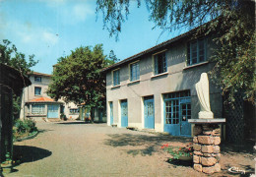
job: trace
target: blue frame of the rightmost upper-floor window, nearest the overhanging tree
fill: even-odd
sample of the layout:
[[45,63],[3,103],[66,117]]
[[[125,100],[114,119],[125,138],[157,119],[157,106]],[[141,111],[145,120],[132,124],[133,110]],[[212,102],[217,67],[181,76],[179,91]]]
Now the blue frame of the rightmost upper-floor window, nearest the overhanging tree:
[[[204,59],[202,61],[200,61],[200,41],[203,41],[204,42]],[[190,40],[188,41],[187,43],[187,62],[186,62],[186,65],[189,67],[189,66],[193,66],[193,65],[197,65],[197,64],[201,64],[201,63],[204,63],[204,62],[207,62],[207,38],[206,37],[200,37],[200,38],[197,38],[195,40]],[[196,62],[193,62],[193,50],[192,50],[192,43],[196,44]]]

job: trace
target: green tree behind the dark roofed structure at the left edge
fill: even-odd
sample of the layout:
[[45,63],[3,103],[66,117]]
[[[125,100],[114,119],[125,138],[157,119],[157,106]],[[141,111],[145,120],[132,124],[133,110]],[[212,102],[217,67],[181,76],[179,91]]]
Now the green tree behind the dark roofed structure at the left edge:
[[[31,68],[37,64],[38,61],[34,61],[34,55],[29,56],[29,62],[26,60],[24,53],[18,52],[18,49],[11,41],[4,39],[3,43],[0,43],[0,63],[11,66],[21,72],[22,75],[28,76],[32,72]],[[18,118],[21,110],[21,96],[13,95],[13,105],[15,117]]]

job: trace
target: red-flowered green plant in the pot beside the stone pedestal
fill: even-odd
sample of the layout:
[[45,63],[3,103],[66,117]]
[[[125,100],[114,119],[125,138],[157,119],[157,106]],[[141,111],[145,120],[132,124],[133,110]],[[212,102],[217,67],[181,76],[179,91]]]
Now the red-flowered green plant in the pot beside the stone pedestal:
[[171,154],[172,158],[169,159],[170,161],[172,159],[179,159],[180,156],[193,156],[192,144],[189,144],[186,147],[169,147],[168,144],[163,144],[161,148]]

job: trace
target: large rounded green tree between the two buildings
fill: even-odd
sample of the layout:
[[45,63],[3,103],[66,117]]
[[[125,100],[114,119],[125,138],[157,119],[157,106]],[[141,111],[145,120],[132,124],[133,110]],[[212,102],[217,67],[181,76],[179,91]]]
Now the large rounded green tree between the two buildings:
[[58,60],[47,93],[56,100],[85,103],[94,116],[94,108],[102,108],[105,103],[105,79],[100,70],[112,63],[114,61],[103,54],[102,44],[93,49],[91,46],[76,48]]

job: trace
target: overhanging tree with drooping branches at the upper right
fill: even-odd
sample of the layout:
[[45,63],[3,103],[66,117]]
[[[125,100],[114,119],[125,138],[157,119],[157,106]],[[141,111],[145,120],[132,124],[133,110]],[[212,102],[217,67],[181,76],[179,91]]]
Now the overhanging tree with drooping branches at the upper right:
[[[163,31],[196,28],[197,35],[214,34],[220,46],[211,60],[216,67],[212,78],[234,101],[242,90],[244,99],[255,100],[255,1],[253,0],[145,0],[149,18]],[[104,28],[110,36],[121,32],[129,15],[130,0],[97,0],[96,13],[102,12]],[[138,8],[141,0],[137,0]]]

